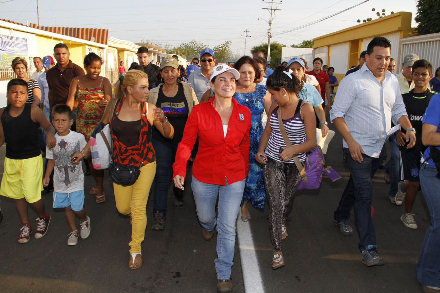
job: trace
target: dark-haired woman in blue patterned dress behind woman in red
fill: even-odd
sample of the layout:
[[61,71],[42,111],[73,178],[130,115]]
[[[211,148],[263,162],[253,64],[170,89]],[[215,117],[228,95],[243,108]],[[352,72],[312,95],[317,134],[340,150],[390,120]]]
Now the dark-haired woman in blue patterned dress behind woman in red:
[[241,206],[242,221],[250,220],[248,201],[258,210],[264,210],[266,190],[264,189],[263,165],[255,160],[258,152],[263,126],[261,125],[261,114],[269,110],[271,97],[268,88],[258,84],[261,72],[257,62],[249,56],[243,56],[235,62],[234,68],[240,72],[233,98],[240,104],[249,108],[252,115],[252,127],[249,133],[249,175],[246,177],[245,190]]

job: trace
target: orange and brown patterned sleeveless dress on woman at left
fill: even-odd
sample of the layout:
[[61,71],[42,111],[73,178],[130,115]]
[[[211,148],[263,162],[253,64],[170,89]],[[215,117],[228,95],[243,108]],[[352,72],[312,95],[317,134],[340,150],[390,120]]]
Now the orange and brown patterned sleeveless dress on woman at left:
[[95,127],[101,121],[104,110],[99,108],[99,101],[104,98],[103,80],[99,83],[99,87],[85,88],[80,86],[78,77],[77,85],[77,132],[84,135],[85,139],[89,139]]

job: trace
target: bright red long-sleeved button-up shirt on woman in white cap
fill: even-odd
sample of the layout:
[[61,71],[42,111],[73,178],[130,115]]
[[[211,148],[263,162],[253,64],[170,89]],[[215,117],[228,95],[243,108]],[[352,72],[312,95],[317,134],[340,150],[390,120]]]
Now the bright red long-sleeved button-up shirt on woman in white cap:
[[224,137],[219,113],[213,101],[195,105],[188,117],[172,165],[174,175],[186,177],[187,160],[198,136],[198,152],[193,163],[193,176],[198,181],[226,185],[241,181],[249,172],[249,130],[251,115],[247,107],[234,98],[231,117]]

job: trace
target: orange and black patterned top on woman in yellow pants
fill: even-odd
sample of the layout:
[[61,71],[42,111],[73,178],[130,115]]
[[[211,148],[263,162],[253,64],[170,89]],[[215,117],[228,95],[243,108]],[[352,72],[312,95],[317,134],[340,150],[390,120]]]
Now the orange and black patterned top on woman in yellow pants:
[[115,112],[110,121],[113,161],[125,166],[153,163],[156,160],[156,153],[150,141],[152,126],[147,119],[147,103],[141,104],[141,119],[123,121],[117,116],[124,100],[125,97],[116,102]]

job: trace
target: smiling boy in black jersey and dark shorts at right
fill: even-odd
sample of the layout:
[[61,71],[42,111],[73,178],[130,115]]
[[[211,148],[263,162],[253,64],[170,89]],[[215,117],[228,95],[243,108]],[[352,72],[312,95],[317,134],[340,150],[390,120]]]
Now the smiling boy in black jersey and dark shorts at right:
[[[436,94],[429,90],[428,83],[433,77],[432,65],[426,60],[415,61],[412,65],[412,82],[414,88],[409,92],[403,93],[403,103],[407,110],[408,118],[411,121],[416,135],[415,145],[407,148],[405,134],[402,131],[396,133],[397,143],[400,145],[400,166],[401,176],[396,193],[396,205],[400,206],[405,200],[405,213],[400,216],[400,220],[405,226],[411,229],[417,229],[414,221],[414,215],[411,213],[414,204],[415,195],[420,188],[420,179],[418,176],[420,169],[420,159],[426,147],[422,145],[422,118],[428,107],[429,100]],[[408,183],[404,183],[407,180]]]

